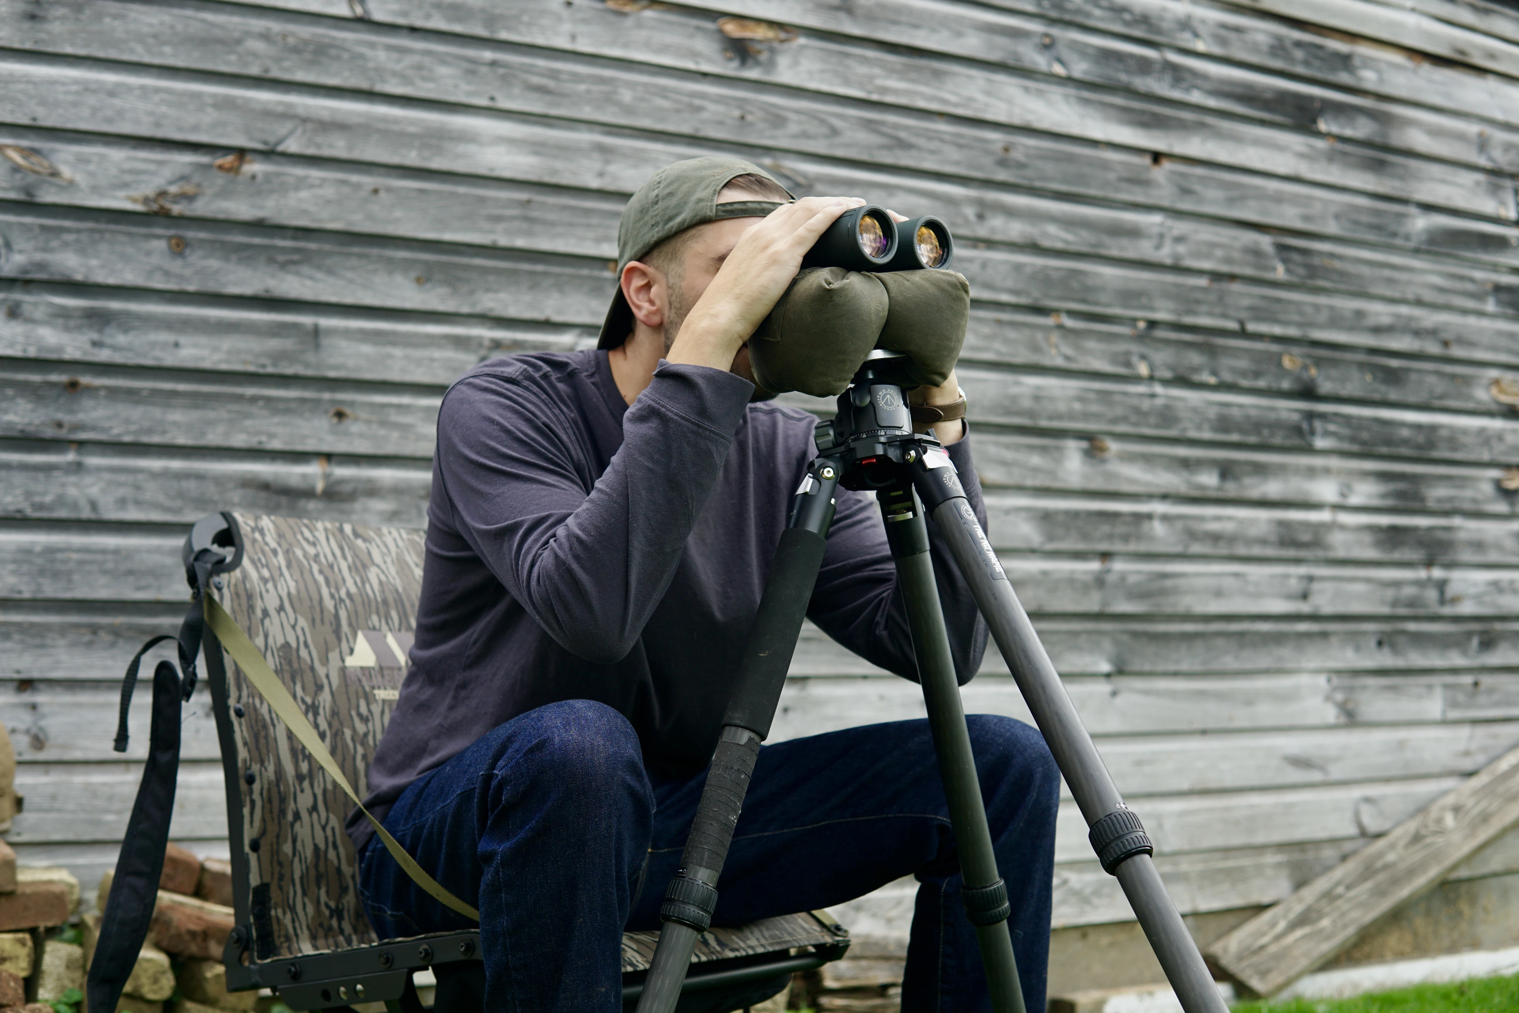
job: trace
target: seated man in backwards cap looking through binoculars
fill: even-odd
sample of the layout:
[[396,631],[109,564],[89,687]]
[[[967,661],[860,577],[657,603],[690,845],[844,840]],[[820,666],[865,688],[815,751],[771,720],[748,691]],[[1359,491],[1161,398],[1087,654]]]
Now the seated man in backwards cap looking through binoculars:
[[[480,908],[492,1013],[621,1008],[624,928],[658,928],[813,419],[750,402],[746,342],[858,199],[791,202],[756,166],[656,173],[618,232],[600,346],[515,355],[447,396],[412,667],[369,808]],[[960,399],[954,375],[914,399]],[[954,415],[954,412],[948,412]],[[965,424],[939,437],[983,515]],[[986,629],[933,559],[962,682]],[[880,513],[840,489],[808,617],[914,677]],[[1030,1010],[1044,1008],[1059,775],[1033,729],[972,717]],[[466,928],[349,822],[383,937]],[[989,1008],[927,721],[766,746],[718,882],[737,925],[921,881],[902,1008]]]

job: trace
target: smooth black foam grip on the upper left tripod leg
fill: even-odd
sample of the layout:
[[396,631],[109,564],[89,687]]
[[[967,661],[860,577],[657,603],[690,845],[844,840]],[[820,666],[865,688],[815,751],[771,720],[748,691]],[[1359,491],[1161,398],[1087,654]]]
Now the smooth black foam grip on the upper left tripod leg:
[[790,527],[781,533],[723,724],[747,727],[761,740],[770,734],[826,548],[828,539],[816,532]]

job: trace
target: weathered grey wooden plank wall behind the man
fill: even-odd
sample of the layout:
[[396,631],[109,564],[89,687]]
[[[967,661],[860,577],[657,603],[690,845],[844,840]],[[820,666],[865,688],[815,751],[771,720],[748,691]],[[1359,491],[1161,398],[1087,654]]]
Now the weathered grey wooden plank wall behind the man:
[[[1519,741],[1507,8],[0,0],[0,47],[24,860],[114,857],[114,679],[178,618],[182,525],[421,524],[448,381],[591,343],[627,194],[706,152],[955,228],[992,538],[1183,910]],[[972,708],[1022,712],[1004,671]],[[173,834],[214,850],[207,706]],[[779,727],[919,709],[814,633]],[[1074,808],[1059,861],[1057,925],[1129,916]]]

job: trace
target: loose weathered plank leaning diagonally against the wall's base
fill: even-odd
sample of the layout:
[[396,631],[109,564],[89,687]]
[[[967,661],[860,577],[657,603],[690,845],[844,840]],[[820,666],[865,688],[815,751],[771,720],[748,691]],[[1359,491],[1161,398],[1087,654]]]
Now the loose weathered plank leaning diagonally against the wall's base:
[[1259,995],[1312,970],[1519,820],[1519,749],[1208,948]]

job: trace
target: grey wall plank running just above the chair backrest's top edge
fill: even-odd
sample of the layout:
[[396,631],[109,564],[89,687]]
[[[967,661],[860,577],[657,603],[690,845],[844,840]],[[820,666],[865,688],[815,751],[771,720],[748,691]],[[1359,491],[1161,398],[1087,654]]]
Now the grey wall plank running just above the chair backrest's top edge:
[[[1513,516],[1519,500],[1504,488],[1507,472],[1499,466],[1230,453],[1121,437],[1101,437],[1098,453],[1091,437],[987,427],[977,428],[974,454],[987,491],[1454,509],[1472,516]],[[0,486],[0,515],[55,519],[194,521],[235,501],[261,513],[419,527],[430,486],[424,459],[0,439],[0,462],[18,477]]]

